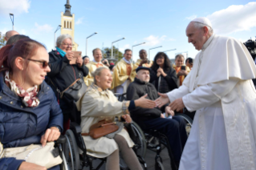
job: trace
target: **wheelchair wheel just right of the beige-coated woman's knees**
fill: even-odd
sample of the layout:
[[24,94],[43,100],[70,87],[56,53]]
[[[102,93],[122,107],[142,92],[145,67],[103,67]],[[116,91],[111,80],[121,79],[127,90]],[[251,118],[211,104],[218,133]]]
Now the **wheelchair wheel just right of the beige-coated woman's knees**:
[[132,123],[132,129],[136,133],[136,141],[133,141],[136,144],[136,154],[142,157],[146,156],[146,151],[147,151],[147,144],[146,144],[146,139],[144,136],[144,132],[141,130],[140,126],[133,122]]

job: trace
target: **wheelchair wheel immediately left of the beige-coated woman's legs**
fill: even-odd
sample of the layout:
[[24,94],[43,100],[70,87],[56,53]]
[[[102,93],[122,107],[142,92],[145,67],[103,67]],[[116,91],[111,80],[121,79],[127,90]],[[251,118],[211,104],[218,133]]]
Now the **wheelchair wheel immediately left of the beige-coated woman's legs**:
[[73,170],[74,168],[74,170],[78,170],[80,168],[79,148],[76,144],[75,136],[70,129],[67,130],[65,136],[67,136],[71,145],[71,150],[70,148],[67,148],[67,153],[65,154],[67,163],[69,164],[70,169]]

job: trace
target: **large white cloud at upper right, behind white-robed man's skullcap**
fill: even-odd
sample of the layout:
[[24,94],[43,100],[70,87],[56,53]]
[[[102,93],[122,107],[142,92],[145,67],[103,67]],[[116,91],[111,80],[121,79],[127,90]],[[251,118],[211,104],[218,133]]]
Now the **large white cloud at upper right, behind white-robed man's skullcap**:
[[256,26],[256,2],[249,2],[244,6],[229,6],[209,14],[207,18],[212,22],[213,31],[217,34],[250,30]]

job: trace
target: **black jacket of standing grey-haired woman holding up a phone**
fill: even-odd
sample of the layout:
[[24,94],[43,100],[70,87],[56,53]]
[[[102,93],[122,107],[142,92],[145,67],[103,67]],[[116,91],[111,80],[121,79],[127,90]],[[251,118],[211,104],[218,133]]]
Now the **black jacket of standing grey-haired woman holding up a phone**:
[[[55,91],[59,106],[63,110],[64,120],[67,121],[71,118],[71,113],[76,111],[75,105],[66,99],[60,99],[56,89],[58,88],[59,91],[65,90],[71,83],[75,82],[75,79],[83,79],[83,76],[87,76],[89,70],[84,65],[83,67],[78,67],[77,64],[70,65],[66,55],[62,57],[58,51],[51,51],[49,57],[51,72],[47,73],[47,83]],[[73,118],[71,120],[74,121]]]

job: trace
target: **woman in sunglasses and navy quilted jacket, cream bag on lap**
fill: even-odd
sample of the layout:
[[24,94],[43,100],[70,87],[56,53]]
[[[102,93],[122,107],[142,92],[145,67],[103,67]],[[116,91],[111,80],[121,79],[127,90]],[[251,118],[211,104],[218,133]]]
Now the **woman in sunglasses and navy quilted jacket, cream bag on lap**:
[[0,50],[2,170],[60,169],[62,160],[52,152],[63,130],[63,114],[44,82],[51,71],[48,61],[46,48],[30,38]]

